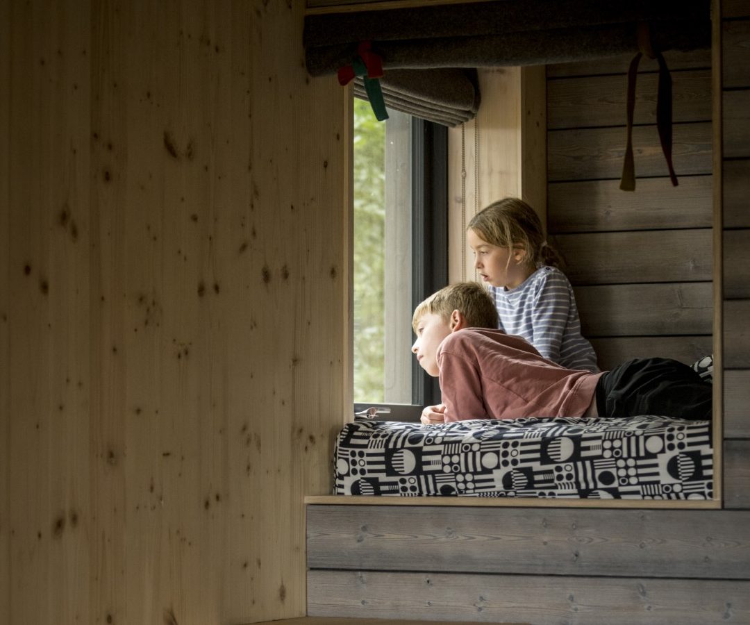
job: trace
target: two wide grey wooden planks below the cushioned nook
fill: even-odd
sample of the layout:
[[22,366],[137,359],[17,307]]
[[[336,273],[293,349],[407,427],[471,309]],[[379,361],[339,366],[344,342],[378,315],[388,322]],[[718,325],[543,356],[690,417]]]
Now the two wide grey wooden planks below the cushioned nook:
[[748,511],[308,506],[308,611],[748,623],[748,527]]

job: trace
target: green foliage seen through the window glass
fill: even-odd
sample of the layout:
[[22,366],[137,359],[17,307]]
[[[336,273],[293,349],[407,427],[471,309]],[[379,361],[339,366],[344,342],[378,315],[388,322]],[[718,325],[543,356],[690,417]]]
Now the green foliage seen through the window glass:
[[382,402],[386,125],[354,101],[354,401]]

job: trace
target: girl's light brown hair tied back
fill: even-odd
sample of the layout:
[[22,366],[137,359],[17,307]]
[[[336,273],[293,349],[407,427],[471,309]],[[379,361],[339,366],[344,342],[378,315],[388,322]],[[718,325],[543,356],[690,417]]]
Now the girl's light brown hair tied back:
[[499,248],[523,248],[524,263],[532,267],[559,267],[559,254],[544,240],[544,229],[538,215],[523,200],[505,197],[479,211],[466,227],[490,245]]

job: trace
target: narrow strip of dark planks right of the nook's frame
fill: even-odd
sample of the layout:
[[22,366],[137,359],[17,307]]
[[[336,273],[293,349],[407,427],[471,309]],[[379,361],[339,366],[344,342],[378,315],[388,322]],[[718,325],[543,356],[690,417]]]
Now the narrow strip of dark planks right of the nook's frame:
[[750,508],[750,2],[721,3],[724,505]]

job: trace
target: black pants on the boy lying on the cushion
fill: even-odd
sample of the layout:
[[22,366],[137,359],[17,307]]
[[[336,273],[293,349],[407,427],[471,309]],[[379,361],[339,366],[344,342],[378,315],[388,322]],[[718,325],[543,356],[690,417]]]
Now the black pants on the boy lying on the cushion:
[[667,358],[639,358],[606,371],[596,385],[599,416],[670,416],[711,419],[709,383],[688,365]]

